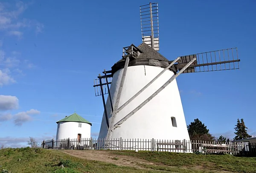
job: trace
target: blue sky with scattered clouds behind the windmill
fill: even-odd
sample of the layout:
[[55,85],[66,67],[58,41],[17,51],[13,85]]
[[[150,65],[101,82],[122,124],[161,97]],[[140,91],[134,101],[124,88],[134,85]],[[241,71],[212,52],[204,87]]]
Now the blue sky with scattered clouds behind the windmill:
[[[93,123],[103,114],[93,79],[141,43],[146,0],[0,2],[0,144],[55,138],[55,123],[76,112]],[[177,78],[186,123],[199,118],[215,136],[233,137],[237,118],[256,135],[254,0],[158,1],[160,53],[178,56],[238,47],[239,70]]]

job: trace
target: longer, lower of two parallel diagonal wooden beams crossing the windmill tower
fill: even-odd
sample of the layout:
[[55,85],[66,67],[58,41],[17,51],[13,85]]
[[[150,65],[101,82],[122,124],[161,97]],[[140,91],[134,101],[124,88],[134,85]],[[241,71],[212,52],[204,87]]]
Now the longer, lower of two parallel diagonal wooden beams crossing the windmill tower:
[[136,113],[138,110],[140,110],[145,104],[147,104],[152,98],[154,98],[157,94],[159,94],[166,86],[168,86],[175,78],[177,78],[186,68],[188,68],[196,58],[193,58],[192,61],[190,61],[186,66],[183,67],[175,76],[172,76],[163,86],[161,86],[154,94],[152,94],[149,98],[147,98],[142,104],[140,104],[138,107],[136,107],[133,111],[131,111],[128,115],[126,115],[124,118],[122,118],[120,121],[118,121],[114,127],[108,131],[114,130],[116,127],[121,125],[123,122],[125,122],[128,118],[130,118],[134,113]]

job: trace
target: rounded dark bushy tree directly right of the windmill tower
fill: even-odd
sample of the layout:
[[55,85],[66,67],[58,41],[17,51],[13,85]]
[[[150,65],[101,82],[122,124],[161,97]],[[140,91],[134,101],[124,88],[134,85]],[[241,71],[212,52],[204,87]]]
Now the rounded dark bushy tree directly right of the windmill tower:
[[190,140],[213,141],[214,136],[209,133],[205,126],[198,118],[194,119],[188,126]]

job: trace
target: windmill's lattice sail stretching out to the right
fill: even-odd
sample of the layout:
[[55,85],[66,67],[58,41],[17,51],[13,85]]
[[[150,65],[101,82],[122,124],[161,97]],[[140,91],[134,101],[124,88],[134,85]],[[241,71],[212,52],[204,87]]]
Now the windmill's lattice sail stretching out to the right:
[[240,59],[238,59],[237,48],[181,56],[179,63],[175,64],[176,69],[182,69],[193,58],[196,58],[197,60],[183,73],[239,69]]

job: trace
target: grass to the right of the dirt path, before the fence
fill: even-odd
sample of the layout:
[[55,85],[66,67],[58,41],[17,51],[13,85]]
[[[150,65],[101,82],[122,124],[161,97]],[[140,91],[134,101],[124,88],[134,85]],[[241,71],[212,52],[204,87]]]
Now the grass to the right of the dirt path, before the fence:
[[[152,152],[130,152],[117,151],[112,152],[115,155],[133,156],[145,159],[157,165],[143,165],[146,168],[155,170],[171,171],[172,167],[176,169],[188,168],[189,172],[206,172],[206,171],[227,171],[256,173],[256,157],[236,157],[231,155],[198,155],[192,153],[152,153]],[[186,172],[185,170],[183,170]]]

